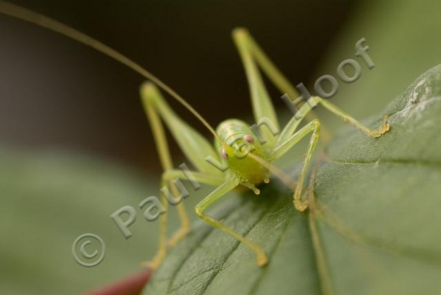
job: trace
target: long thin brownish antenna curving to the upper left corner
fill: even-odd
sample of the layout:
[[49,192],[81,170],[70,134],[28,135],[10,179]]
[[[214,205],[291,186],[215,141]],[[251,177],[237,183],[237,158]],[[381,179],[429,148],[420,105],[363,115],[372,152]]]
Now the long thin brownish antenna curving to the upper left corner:
[[145,77],[146,79],[149,79],[150,81],[158,85],[159,88],[170,94],[170,96],[176,99],[176,101],[181,103],[185,108],[187,108],[187,110],[192,112],[192,114],[194,114],[194,116],[196,116],[196,118],[199,121],[201,121],[203,125],[205,125],[205,127],[209,130],[209,132],[212,132],[214,137],[218,139],[220,143],[223,143],[223,140],[220,139],[218,134],[216,134],[212,126],[209,125],[209,123],[205,121],[205,119],[203,119],[201,114],[196,112],[196,110],[194,110],[194,108],[191,105],[189,105],[189,103],[187,103],[187,101],[185,101],[185,99],[183,99],[182,96],[177,94],[174,90],[172,90],[172,88],[170,88],[163,81],[156,78],[154,74],[150,73],[149,71],[145,70],[145,68],[141,67],[141,65],[135,63],[128,57],[125,57],[125,55],[117,52],[116,50],[110,48],[104,43],[101,43],[100,41],[88,36],[87,34],[79,32],[78,30],[75,30],[74,28],[65,25],[64,23],[60,23],[59,21],[55,21],[54,19],[50,19],[49,17],[45,17],[42,14],[33,12],[32,10],[22,8],[20,6],[16,6],[12,3],[8,3],[6,1],[0,0],[0,13],[6,14],[10,17],[21,19],[22,21],[28,21],[29,23],[34,23],[37,26],[47,28],[59,34],[63,34],[66,37],[69,37],[70,39],[74,39],[79,43],[88,45],[94,48],[95,50],[107,55],[108,57],[111,57],[112,59],[115,59],[116,61],[123,63],[123,65],[126,65],[128,68],[131,68],[135,72],[141,74],[141,76]]

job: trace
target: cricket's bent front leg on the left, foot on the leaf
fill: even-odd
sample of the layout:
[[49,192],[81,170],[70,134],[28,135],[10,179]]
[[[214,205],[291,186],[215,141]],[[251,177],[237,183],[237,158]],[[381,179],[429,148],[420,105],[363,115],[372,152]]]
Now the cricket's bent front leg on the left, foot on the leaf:
[[217,221],[212,216],[209,216],[204,213],[205,209],[212,203],[214,203],[216,200],[218,200],[221,196],[227,194],[230,190],[233,190],[234,187],[236,187],[240,181],[237,178],[229,179],[222,185],[220,185],[216,190],[214,190],[211,194],[205,197],[196,207],[194,208],[196,211],[196,214],[208,223],[209,225],[212,225],[213,227],[217,227],[218,229],[222,230],[226,234],[229,234],[233,238],[236,238],[237,241],[240,243],[244,243],[249,249],[253,250],[257,255],[257,264],[259,266],[263,266],[268,263],[267,255],[265,254],[265,251],[262,249],[262,247],[256,245],[252,241],[250,241],[248,238],[245,238],[242,234],[239,234],[238,232],[234,232],[231,228],[224,225],[221,221]]

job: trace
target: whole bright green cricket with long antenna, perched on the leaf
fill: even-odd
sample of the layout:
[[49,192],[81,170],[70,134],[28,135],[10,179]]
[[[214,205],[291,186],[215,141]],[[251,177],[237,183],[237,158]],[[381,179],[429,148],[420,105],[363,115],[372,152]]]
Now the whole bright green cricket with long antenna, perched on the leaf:
[[[113,50],[86,34],[65,26],[63,23],[59,23],[58,21],[44,17],[41,14],[37,14],[19,6],[14,6],[13,4],[1,0],[0,12],[12,17],[17,17],[23,21],[35,23],[44,28],[64,34],[80,43],[89,45],[99,52],[116,59],[116,61],[127,65],[127,67],[132,68],[132,70],[138,72],[146,79],[149,79],[151,82],[147,81],[141,85],[140,92],[145,112],[150,121],[150,127],[152,128],[154,135],[156,149],[158,150],[158,155],[164,170],[163,176],[161,177],[162,184],[170,187],[172,194],[176,195],[176,187],[174,187],[172,181],[174,179],[186,179],[183,173],[174,169],[167,138],[165,136],[165,130],[163,128],[163,123],[165,123],[167,128],[172,132],[172,135],[183,151],[183,154],[185,154],[187,159],[194,166],[195,171],[193,174],[196,181],[217,186],[212,193],[196,205],[196,214],[209,225],[219,228],[226,234],[236,238],[240,243],[249,247],[250,250],[256,253],[257,264],[260,266],[266,265],[268,262],[263,247],[260,247],[246,236],[227,227],[223,221],[218,221],[216,218],[206,214],[205,210],[207,207],[239,185],[247,187],[258,194],[259,190],[256,188],[256,185],[259,185],[260,183],[268,183],[269,174],[271,173],[292,188],[294,191],[294,207],[299,211],[306,210],[308,205],[311,205],[311,198],[308,200],[302,196],[305,193],[309,194],[309,196],[313,194],[312,190],[314,188],[314,183],[309,183],[309,188],[306,190],[303,188],[303,183],[309,170],[311,156],[314,154],[314,149],[318,142],[320,122],[318,119],[314,119],[304,127],[300,128],[300,130],[296,131],[296,129],[300,125],[302,119],[304,119],[316,105],[322,105],[330,112],[336,114],[336,116],[339,116],[355,128],[358,128],[358,130],[365,133],[367,136],[379,137],[389,130],[387,118],[384,118],[380,128],[377,130],[370,130],[356,121],[356,119],[349,116],[349,114],[337,108],[336,105],[325,99],[321,99],[318,96],[311,96],[306,103],[303,103],[300,106],[296,120],[291,119],[280,134],[273,136],[269,130],[265,128],[263,128],[264,130],[261,130],[263,136],[267,140],[265,143],[260,143],[257,140],[256,134],[252,132],[252,129],[247,123],[237,119],[228,119],[223,123],[220,123],[216,131],[214,131],[207,121],[205,121],[205,119],[203,119],[203,117],[181,96],[176,94],[174,90],[140,65],[134,63],[134,61],[128,59],[123,54],[116,52],[116,50]],[[269,99],[269,95],[267,94],[259,68],[267,75],[271,83],[274,83],[282,92],[287,92],[293,97],[296,97],[296,88],[289,83],[288,79],[278,70],[278,68],[276,68],[265,52],[258,47],[256,41],[254,41],[247,30],[243,28],[235,29],[233,31],[233,39],[240,53],[240,59],[243,62],[245,73],[247,75],[254,119],[256,122],[266,119],[278,127],[278,117],[274,111],[271,99]],[[205,127],[212,132],[212,134],[214,134],[214,145],[209,143],[209,141],[207,141],[207,139],[205,139],[199,132],[187,125],[183,119],[179,118],[173,112],[156,86],[184,105],[185,108],[192,112],[192,114],[194,114]],[[300,176],[298,177],[298,182],[294,184],[294,182],[290,181],[289,177],[283,174],[283,172],[280,172],[280,170],[277,170],[272,166],[272,163],[293,148],[298,141],[308,134],[311,134],[311,138],[309,140],[307,154],[302,165]],[[226,165],[227,170],[219,170],[208,161],[205,161],[207,156],[211,156],[212,159],[216,159]],[[167,201],[165,198],[163,198],[163,205],[167,207]],[[161,262],[167,253],[167,244],[174,245],[178,243],[178,241],[185,237],[187,232],[189,232],[189,221],[183,203],[179,203],[177,206],[181,218],[181,228],[170,240],[167,241],[167,214],[161,215],[159,222],[160,234],[158,252],[153,260],[147,263],[149,267],[156,268],[158,265],[161,265]]]

